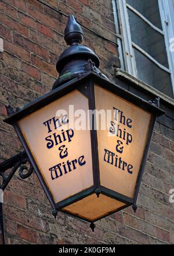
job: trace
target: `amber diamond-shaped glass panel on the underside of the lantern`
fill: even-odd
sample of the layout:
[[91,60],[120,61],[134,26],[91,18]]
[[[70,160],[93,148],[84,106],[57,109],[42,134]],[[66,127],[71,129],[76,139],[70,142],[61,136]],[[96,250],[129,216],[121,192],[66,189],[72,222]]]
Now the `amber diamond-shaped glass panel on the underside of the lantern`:
[[88,219],[88,221],[95,221],[117,211],[124,205],[125,203],[104,194],[100,194],[99,197],[96,194],[91,194],[76,203],[64,207],[62,210],[77,215],[77,217]]

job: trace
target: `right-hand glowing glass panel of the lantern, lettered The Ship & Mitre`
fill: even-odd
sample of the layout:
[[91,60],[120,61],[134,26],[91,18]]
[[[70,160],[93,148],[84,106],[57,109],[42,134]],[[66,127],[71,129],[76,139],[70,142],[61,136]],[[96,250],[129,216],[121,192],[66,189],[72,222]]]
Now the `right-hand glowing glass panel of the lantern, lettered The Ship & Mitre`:
[[132,199],[151,113],[97,85],[95,103],[96,110],[104,110],[107,117],[99,118],[97,130],[100,185]]

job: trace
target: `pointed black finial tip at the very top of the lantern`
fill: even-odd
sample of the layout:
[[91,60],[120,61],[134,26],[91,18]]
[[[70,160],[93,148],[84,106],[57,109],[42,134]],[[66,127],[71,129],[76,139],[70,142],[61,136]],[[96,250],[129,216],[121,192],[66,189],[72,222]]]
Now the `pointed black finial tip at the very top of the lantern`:
[[64,39],[68,45],[81,44],[84,38],[81,26],[74,19],[73,15],[68,17],[68,23],[64,30]]

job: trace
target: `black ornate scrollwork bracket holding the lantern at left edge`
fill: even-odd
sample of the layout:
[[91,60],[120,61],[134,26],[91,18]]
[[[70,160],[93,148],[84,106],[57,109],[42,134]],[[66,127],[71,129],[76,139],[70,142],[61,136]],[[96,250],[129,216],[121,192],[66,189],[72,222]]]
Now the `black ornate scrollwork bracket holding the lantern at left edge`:
[[[29,168],[26,165],[24,165],[26,163],[28,163],[30,165]],[[32,168],[30,160],[28,159],[25,151],[0,163],[0,178],[2,179],[2,182],[0,183],[0,189],[5,190],[10,179],[12,179],[14,173],[17,171],[17,169],[19,167],[20,167],[19,176],[21,179],[26,179],[26,178],[30,177],[30,175],[33,172],[33,168]],[[11,169],[10,172],[8,172],[8,174],[6,174],[6,171],[9,169]],[[24,171],[26,171],[26,172],[24,172]]]

